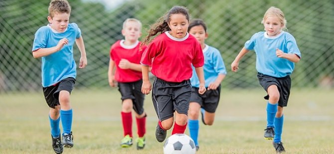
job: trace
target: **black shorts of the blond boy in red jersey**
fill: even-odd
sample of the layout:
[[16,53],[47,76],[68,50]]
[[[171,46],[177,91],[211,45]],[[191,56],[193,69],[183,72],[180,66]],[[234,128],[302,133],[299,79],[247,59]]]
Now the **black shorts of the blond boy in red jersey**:
[[125,99],[132,99],[133,109],[139,115],[144,113],[144,98],[142,93],[143,80],[134,82],[118,82],[118,91],[121,92],[122,101]]

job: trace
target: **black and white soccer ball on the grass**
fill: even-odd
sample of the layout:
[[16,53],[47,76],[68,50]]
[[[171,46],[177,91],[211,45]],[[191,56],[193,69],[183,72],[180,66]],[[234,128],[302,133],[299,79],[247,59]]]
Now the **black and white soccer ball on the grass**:
[[164,154],[195,154],[194,141],[185,134],[174,134],[167,138]]

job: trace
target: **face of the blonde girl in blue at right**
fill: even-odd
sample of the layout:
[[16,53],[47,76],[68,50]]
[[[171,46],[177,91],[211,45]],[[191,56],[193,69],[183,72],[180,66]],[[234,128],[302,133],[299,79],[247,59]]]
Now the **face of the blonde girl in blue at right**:
[[263,25],[268,36],[276,36],[280,34],[284,26],[283,23],[281,23],[280,19],[277,16],[273,15],[268,16],[264,20]]

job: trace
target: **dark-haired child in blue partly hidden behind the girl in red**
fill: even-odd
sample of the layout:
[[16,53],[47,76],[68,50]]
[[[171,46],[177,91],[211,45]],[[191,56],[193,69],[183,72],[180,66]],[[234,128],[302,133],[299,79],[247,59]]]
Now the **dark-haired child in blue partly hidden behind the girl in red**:
[[[214,115],[220,98],[220,83],[226,75],[226,69],[221,58],[220,52],[204,43],[208,34],[206,32],[205,23],[200,20],[192,20],[188,27],[188,32],[192,34],[200,43],[204,54],[204,77],[205,88],[207,91],[201,95],[198,93],[199,80],[196,76],[190,78],[191,81],[191,97],[189,104],[188,126],[191,139],[195,142],[196,151],[198,146],[198,113],[202,113],[202,122],[204,125],[212,125]],[[194,74],[193,70],[193,74]]]

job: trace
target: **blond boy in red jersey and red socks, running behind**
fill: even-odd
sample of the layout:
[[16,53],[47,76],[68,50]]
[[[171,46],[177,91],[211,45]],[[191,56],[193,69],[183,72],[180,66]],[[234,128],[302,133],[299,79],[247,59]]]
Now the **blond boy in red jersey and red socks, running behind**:
[[[122,123],[124,138],[121,147],[132,146],[132,108],[135,110],[138,137],[137,149],[145,146],[145,122],[144,97],[141,88],[143,84],[142,67],[140,60],[146,46],[140,48],[138,38],[141,33],[142,23],[134,18],[128,18],[123,23],[122,34],[124,40],[119,40],[111,46],[108,79],[109,85],[115,87],[118,82],[118,90],[122,95]],[[114,72],[116,66],[116,71]]]

